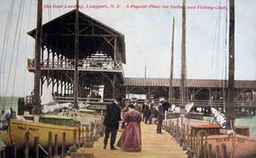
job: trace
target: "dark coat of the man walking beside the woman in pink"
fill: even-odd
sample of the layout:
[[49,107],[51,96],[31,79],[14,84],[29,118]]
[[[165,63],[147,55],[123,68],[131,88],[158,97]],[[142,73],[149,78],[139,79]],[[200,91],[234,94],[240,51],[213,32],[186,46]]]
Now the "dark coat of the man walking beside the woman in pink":
[[121,120],[121,109],[116,103],[107,105],[107,114],[103,124],[109,129],[118,129]]

